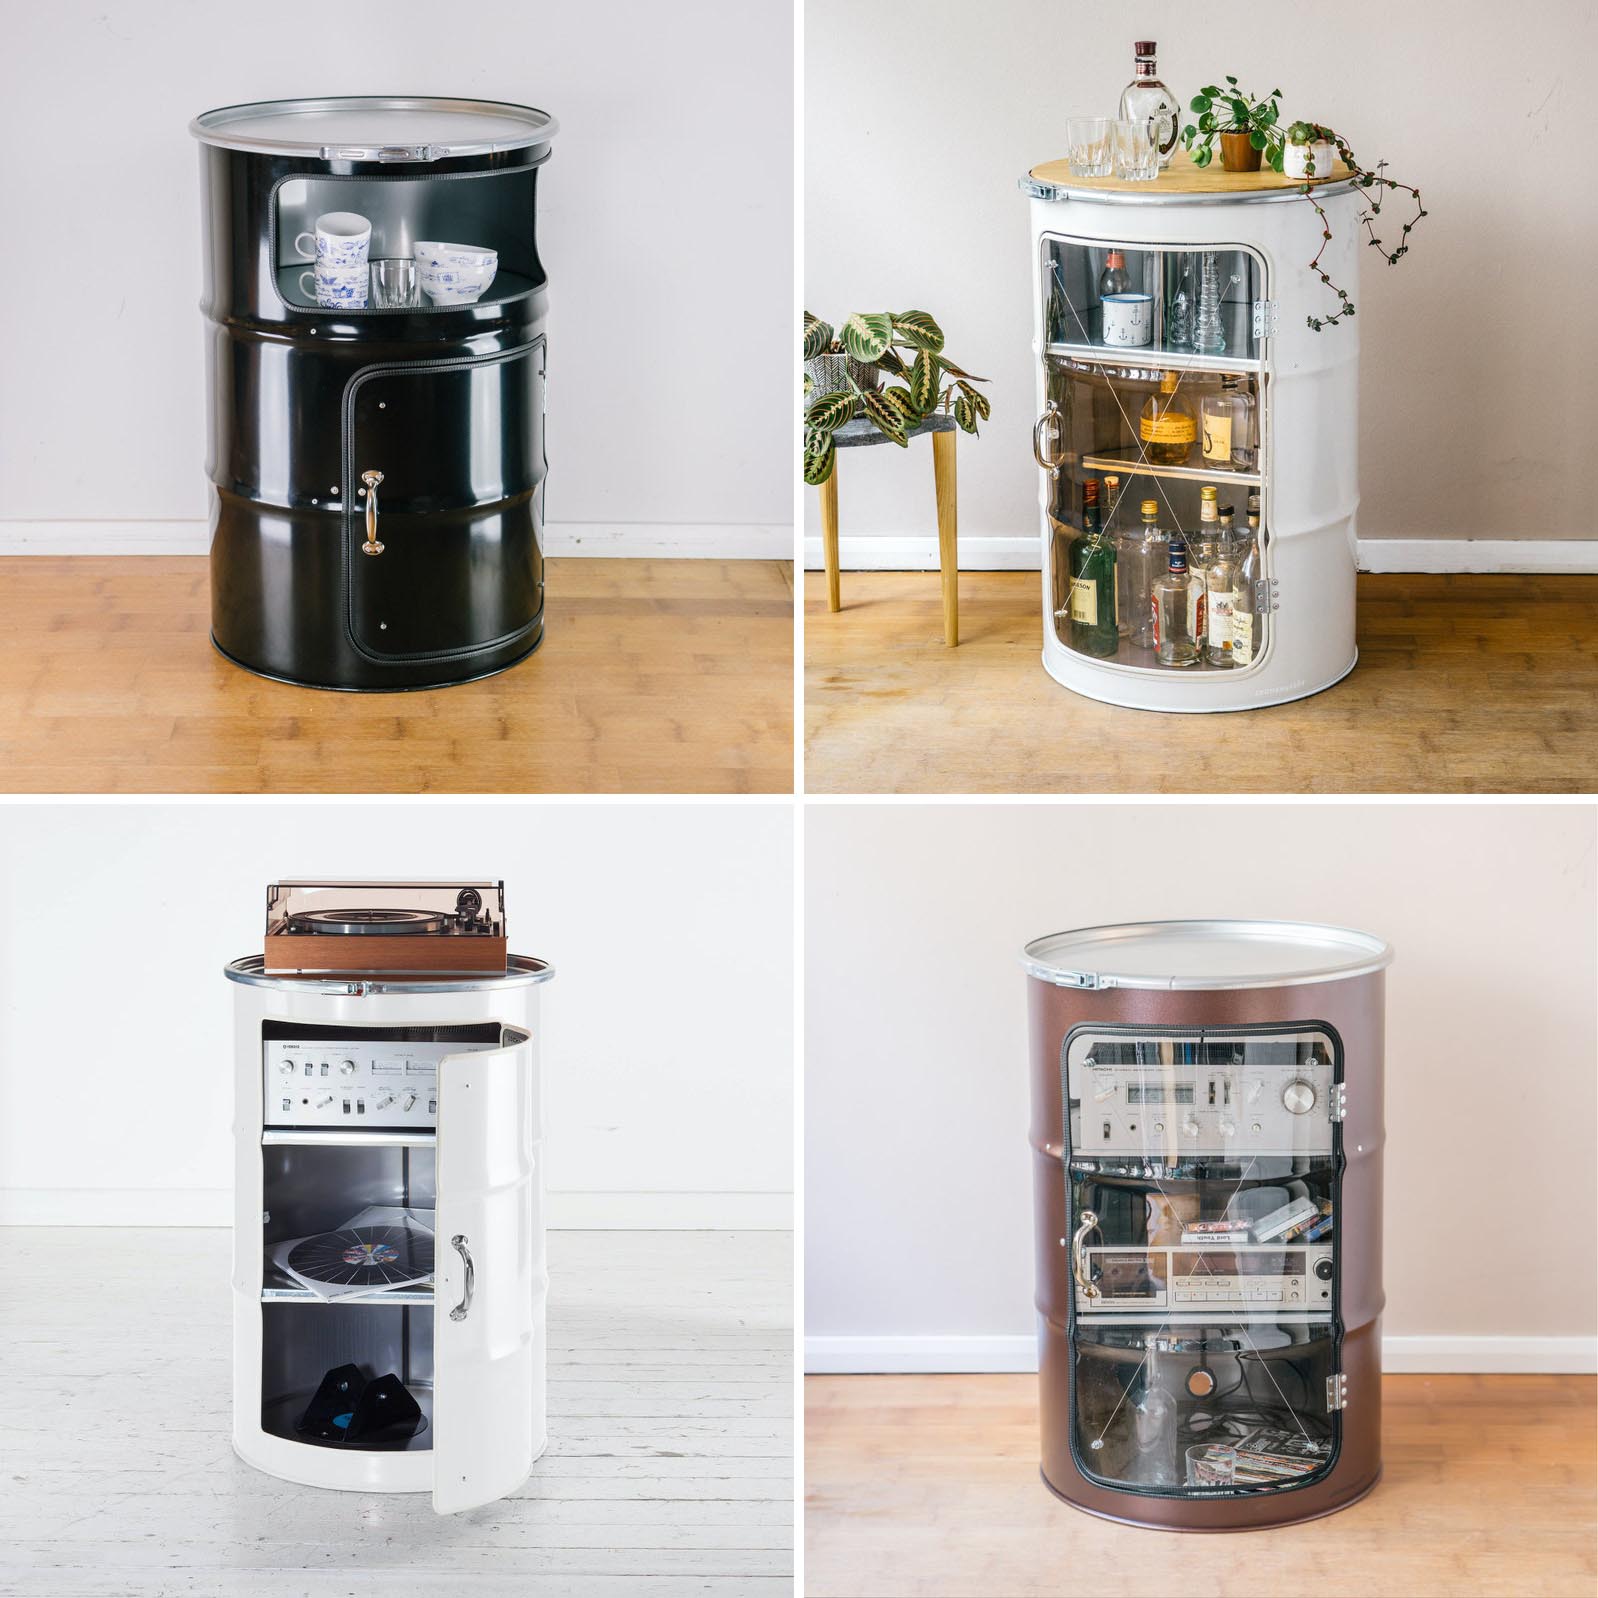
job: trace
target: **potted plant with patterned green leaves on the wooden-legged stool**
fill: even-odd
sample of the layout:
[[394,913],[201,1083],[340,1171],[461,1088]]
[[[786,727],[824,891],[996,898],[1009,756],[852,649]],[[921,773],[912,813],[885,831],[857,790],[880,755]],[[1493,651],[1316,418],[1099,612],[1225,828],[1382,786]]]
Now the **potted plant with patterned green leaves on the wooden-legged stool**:
[[[821,484],[833,475],[833,435],[866,415],[901,449],[909,435],[938,411],[967,433],[991,412],[988,396],[943,353],[943,329],[924,310],[853,315],[831,328],[804,313],[804,479]],[[882,376],[900,379],[880,387]],[[954,380],[944,385],[943,379]]]

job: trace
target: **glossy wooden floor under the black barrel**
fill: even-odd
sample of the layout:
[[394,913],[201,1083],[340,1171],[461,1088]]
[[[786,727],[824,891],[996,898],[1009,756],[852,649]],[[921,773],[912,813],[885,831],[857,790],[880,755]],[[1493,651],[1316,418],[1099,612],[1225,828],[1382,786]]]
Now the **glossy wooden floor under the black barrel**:
[[531,660],[425,694],[267,682],[206,562],[0,559],[11,793],[791,793],[785,561],[553,559]]

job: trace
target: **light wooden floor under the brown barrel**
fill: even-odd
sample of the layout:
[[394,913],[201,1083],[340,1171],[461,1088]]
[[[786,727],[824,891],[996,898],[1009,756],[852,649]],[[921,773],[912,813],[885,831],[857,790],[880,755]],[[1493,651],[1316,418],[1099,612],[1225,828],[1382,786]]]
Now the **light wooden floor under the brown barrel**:
[[1043,1488],[1034,1376],[812,1376],[805,1593],[1592,1598],[1593,1421],[1588,1376],[1389,1376],[1369,1497],[1194,1537]]

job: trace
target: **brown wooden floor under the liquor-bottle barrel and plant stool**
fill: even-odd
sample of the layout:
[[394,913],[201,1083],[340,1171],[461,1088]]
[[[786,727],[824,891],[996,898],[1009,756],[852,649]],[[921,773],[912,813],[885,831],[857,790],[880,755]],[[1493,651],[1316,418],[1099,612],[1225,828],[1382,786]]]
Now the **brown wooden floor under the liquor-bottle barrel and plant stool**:
[[1119,710],[1045,676],[1036,572],[805,578],[809,793],[1595,793],[1598,577],[1363,575],[1360,663],[1294,705]]

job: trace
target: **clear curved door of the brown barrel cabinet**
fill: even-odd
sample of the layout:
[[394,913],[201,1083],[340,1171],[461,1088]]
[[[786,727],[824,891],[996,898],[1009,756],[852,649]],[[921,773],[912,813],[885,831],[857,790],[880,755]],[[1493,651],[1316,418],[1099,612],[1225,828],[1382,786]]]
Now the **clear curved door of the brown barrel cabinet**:
[[1202,1496],[1323,1475],[1341,1438],[1336,1036],[1077,1029],[1061,1079],[1077,1465]]

